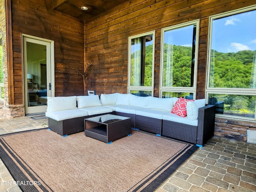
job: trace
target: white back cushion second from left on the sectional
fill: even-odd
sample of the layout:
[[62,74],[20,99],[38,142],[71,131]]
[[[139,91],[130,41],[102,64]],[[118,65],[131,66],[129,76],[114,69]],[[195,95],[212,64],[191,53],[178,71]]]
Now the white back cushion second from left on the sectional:
[[98,95],[89,96],[76,96],[78,108],[101,106],[100,98]]

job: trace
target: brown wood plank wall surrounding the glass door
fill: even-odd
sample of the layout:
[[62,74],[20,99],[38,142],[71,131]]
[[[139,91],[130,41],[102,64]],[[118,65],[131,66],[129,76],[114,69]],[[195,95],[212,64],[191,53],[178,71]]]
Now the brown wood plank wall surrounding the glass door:
[[12,0],[15,104],[23,104],[22,39],[27,34],[54,40],[55,96],[83,95],[84,22],[52,10],[51,0]]

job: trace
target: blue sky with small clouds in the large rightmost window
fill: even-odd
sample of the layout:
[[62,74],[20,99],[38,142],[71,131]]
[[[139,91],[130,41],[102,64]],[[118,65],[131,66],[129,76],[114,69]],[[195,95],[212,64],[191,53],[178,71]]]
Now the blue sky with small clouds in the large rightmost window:
[[218,52],[256,50],[256,10],[214,20],[212,39]]

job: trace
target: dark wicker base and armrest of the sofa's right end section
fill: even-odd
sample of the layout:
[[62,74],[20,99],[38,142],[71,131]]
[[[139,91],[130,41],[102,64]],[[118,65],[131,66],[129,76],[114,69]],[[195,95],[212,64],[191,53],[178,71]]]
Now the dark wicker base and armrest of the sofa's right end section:
[[214,135],[215,105],[198,110],[198,126],[163,120],[162,135],[203,146]]

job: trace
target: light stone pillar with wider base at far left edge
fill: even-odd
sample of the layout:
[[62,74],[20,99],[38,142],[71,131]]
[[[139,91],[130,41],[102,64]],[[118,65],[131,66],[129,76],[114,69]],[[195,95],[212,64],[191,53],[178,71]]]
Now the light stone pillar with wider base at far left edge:
[[0,33],[3,45],[3,58],[0,59],[3,61],[4,71],[4,100],[0,100],[0,117],[12,119],[24,116],[24,105],[9,105],[5,0],[0,0]]

